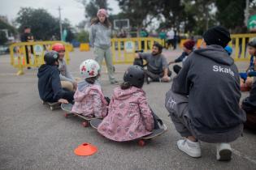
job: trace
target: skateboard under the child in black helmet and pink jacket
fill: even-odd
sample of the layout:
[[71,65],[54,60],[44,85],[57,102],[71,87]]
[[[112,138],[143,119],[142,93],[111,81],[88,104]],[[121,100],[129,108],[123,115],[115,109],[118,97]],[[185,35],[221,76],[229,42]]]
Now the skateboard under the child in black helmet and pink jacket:
[[[95,128],[95,129],[98,129],[98,125],[102,122],[101,119],[93,119],[92,121],[90,121],[90,125]],[[162,127],[158,130],[153,130],[153,133],[152,134],[149,134],[149,135],[146,135],[144,137],[141,137],[141,138],[138,138],[138,145],[141,146],[141,147],[144,147],[145,146],[145,141],[148,141],[152,138],[155,138],[161,134],[163,134],[164,132],[167,131],[167,126],[166,125],[162,125]]]

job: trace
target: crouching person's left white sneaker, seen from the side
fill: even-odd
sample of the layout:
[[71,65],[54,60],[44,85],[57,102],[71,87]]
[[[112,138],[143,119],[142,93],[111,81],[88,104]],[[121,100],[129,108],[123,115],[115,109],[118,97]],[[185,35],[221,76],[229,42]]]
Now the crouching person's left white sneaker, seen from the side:
[[193,158],[201,157],[201,148],[199,142],[193,142],[189,139],[181,139],[177,142],[177,146],[180,151],[190,155]]

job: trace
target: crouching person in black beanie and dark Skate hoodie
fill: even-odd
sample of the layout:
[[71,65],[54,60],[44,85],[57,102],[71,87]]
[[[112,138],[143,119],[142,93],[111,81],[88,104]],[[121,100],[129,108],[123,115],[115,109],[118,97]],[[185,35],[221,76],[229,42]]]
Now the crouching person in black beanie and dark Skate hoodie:
[[218,160],[230,160],[229,142],[243,132],[245,112],[240,108],[239,73],[224,47],[231,40],[226,28],[217,26],[204,35],[206,47],[193,51],[173,79],[165,106],[184,139],[180,151],[200,157],[199,141],[216,143]]

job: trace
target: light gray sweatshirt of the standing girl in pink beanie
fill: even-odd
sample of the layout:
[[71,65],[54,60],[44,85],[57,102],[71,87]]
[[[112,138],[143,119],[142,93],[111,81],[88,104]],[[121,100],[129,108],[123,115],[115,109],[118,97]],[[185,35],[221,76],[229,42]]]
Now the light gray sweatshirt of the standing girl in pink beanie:
[[89,41],[92,47],[108,49],[111,47],[111,28],[106,28],[102,23],[95,23],[89,31]]

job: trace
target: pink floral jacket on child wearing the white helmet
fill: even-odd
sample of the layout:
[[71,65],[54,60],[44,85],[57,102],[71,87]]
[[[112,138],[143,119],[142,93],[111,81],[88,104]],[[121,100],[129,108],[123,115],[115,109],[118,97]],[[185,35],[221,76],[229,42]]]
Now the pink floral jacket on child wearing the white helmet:
[[106,117],[107,102],[98,83],[90,84],[86,81],[78,83],[74,100],[73,113],[86,117]]

